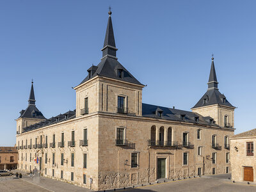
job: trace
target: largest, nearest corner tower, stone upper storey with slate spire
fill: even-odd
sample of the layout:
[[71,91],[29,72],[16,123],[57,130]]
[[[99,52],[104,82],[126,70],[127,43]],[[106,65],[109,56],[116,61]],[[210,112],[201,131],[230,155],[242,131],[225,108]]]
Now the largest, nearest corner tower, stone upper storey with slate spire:
[[[88,68],[88,76],[77,85],[76,116],[107,112],[119,115],[142,115],[144,87],[116,58],[115,36],[108,12],[108,25],[100,63]],[[132,62],[132,60],[131,60]]]

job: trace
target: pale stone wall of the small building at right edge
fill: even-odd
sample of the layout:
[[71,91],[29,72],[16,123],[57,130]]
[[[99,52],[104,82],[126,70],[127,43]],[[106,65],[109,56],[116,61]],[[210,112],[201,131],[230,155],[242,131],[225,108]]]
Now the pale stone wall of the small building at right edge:
[[[243,134],[243,133],[242,133]],[[230,162],[232,168],[232,180],[242,182],[244,180],[249,181],[244,178],[244,168],[252,168],[252,180],[256,182],[256,157],[253,152],[248,152],[248,144],[252,143],[253,148],[255,148],[256,135],[254,136],[239,136],[237,134],[230,139]]]

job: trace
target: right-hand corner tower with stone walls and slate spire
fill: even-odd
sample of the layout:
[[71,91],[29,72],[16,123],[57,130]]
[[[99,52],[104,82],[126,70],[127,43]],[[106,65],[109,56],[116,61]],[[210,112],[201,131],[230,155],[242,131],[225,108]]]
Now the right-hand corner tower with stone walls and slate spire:
[[211,116],[220,127],[234,127],[235,107],[228,102],[224,94],[218,89],[218,81],[212,56],[211,71],[208,81],[208,89],[204,96],[191,108],[202,116]]

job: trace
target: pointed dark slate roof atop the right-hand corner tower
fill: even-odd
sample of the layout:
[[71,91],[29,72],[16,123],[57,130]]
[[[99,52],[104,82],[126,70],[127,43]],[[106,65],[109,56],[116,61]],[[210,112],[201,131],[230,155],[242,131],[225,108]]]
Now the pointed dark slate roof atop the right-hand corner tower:
[[207,84],[208,84],[207,92],[203,95],[203,97],[196,103],[196,105],[192,109],[201,108],[204,106],[211,106],[214,104],[235,108],[234,106],[232,106],[232,104],[230,104],[230,102],[228,102],[225,95],[219,92],[213,56],[212,56],[212,64],[211,64],[209,81]]

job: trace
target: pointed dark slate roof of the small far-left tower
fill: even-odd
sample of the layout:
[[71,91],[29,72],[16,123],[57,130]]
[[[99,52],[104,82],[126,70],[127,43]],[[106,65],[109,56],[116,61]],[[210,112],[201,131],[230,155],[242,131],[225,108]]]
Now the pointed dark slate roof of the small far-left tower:
[[26,110],[21,110],[20,111],[20,117],[45,119],[45,117],[41,113],[41,111],[39,111],[36,108],[36,100],[35,100],[33,80],[31,82],[31,90],[30,90],[30,93],[29,93],[28,108],[26,108]]

